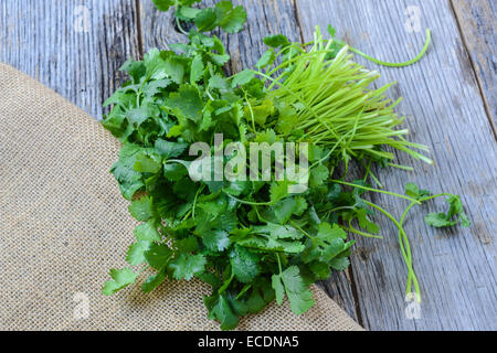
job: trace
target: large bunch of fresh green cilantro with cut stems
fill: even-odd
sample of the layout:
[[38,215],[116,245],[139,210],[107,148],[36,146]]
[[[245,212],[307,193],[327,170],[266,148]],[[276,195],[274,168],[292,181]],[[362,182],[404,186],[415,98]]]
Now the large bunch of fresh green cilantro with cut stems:
[[[426,148],[406,141],[408,131],[399,129],[402,119],[393,110],[395,104],[384,98],[390,85],[371,89],[378,74],[353,62],[332,28],[329,41],[317,30],[310,49],[281,34],[268,36],[264,43],[269,49],[256,69],[226,77],[230,56],[218,36],[204,33],[216,28],[240,31],[246,12],[230,1],[203,9],[192,8],[195,2],[200,1],[154,0],[159,10],[176,8],[178,29],[188,43],[127,61],[120,69],[129,81],[105,103],[112,111],[103,125],[123,143],[112,173],[140,224],[126,254],[128,265],[139,268],[112,269],[104,295],[124,289],[150,269],[144,292],[167,280],[193,277],[211,286],[203,301],[208,317],[223,330],[234,329],[240,318],[262,311],[273,300],[281,304],[288,298],[293,312],[303,314],[314,304],[311,284],[349,266],[355,242],[348,234],[381,237],[377,213],[399,228],[408,291],[414,284],[419,292],[404,231],[409,211],[446,196],[448,212],[430,214],[426,222],[437,227],[470,223],[458,196],[432,196],[412,183],[406,195],[400,195],[367,183],[371,178],[380,184],[372,164],[387,167],[393,159],[385,146],[431,162],[413,150]],[[194,181],[190,148],[193,142],[212,146],[215,133],[244,146],[308,143],[308,188],[293,193],[294,183],[286,175]],[[232,158],[214,154],[211,161],[225,170]],[[349,183],[343,180],[352,160],[364,165],[366,173]],[[343,178],[334,180],[340,169]],[[398,221],[363,197],[367,192],[411,204]]]

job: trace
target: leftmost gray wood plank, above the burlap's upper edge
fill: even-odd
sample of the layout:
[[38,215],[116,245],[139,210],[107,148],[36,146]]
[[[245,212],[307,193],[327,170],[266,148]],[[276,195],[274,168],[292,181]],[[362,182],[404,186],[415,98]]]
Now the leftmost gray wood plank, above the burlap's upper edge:
[[97,119],[102,103],[138,55],[135,0],[3,0],[0,61],[66,97]]

